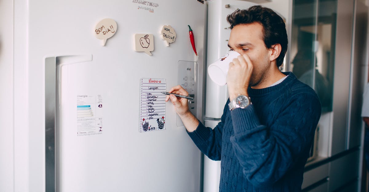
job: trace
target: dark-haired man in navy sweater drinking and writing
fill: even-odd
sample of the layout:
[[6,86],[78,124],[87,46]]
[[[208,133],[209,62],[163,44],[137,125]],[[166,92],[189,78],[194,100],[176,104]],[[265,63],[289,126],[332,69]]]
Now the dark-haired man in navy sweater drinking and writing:
[[[301,191],[304,165],[320,118],[318,96],[292,72],[282,73],[287,50],[283,19],[253,6],[227,17],[228,46],[241,54],[229,64],[229,100],[221,122],[204,127],[187,99],[167,96],[189,136],[210,159],[221,160],[220,191]],[[169,92],[188,95],[175,86]]]

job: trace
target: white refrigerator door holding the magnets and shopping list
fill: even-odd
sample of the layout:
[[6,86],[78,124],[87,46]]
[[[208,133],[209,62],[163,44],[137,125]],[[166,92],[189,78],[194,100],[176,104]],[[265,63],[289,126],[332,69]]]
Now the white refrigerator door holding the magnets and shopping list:
[[[34,109],[29,116],[32,137],[40,141],[32,144],[35,150],[45,145],[45,129],[42,133],[43,126],[38,128],[45,113],[42,58],[93,56],[92,61],[61,65],[56,74],[56,181],[46,191],[199,191],[200,151],[185,128],[177,127],[172,104],[164,103],[163,121],[155,117],[165,121],[165,129],[147,132],[139,132],[139,106],[141,78],[164,79],[168,91],[179,83],[179,61],[190,61],[197,66],[192,110],[201,119],[205,11],[196,0],[29,1],[27,78],[34,90],[29,92]],[[114,19],[117,29],[102,46],[94,33],[104,18]],[[176,32],[169,47],[160,38],[164,25]],[[187,25],[193,29],[199,57]],[[134,35],[141,33],[154,36],[152,56],[135,51]],[[32,162],[49,162],[37,158],[30,153]]]

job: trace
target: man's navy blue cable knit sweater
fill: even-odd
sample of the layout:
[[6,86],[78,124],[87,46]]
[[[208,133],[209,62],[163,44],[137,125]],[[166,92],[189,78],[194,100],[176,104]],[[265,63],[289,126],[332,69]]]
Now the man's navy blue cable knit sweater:
[[321,114],[318,96],[292,72],[281,83],[248,89],[245,109],[225,104],[214,128],[188,132],[201,152],[221,160],[220,191],[299,192]]

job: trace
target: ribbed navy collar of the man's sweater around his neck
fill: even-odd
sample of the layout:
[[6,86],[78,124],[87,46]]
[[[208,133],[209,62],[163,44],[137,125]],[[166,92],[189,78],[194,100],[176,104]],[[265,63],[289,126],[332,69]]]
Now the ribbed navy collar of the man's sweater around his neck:
[[282,73],[288,76],[281,83],[263,89],[252,89],[251,87],[249,87],[247,90],[249,96],[264,95],[271,93],[275,90],[284,89],[289,83],[291,83],[296,79],[296,76],[292,72],[282,72]]

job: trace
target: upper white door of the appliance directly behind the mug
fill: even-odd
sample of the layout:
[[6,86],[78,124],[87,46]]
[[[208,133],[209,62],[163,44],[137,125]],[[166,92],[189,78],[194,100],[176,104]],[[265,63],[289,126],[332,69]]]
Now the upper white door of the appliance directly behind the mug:
[[[207,67],[229,50],[228,39],[231,29],[227,22],[227,15],[237,9],[246,9],[254,5],[257,4],[240,0],[208,1]],[[220,118],[227,99],[227,85],[219,86],[207,75],[205,117]]]

